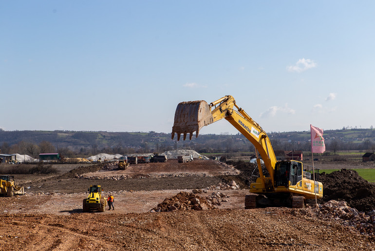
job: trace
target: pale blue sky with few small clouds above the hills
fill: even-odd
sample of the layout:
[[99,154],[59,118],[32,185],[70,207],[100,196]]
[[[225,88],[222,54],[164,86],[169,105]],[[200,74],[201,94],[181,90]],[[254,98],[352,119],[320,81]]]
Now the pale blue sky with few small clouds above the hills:
[[[375,126],[375,1],[0,0],[0,128],[170,133],[231,95],[266,132]],[[201,134],[236,134],[227,121]]]

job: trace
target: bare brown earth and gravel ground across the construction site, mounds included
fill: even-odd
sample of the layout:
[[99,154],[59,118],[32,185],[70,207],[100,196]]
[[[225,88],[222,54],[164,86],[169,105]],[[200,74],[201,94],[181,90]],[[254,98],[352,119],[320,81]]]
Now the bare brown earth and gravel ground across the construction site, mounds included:
[[[318,208],[244,210],[257,175],[247,162],[56,167],[15,175],[25,195],[0,197],[0,250],[375,250],[374,185],[354,170],[320,175]],[[82,211],[93,184],[114,211]]]

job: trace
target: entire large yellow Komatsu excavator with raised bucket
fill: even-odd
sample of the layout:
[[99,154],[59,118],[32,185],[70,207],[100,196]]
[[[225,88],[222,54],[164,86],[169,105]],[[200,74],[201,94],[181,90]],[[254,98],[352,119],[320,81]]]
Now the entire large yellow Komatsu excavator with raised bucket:
[[[236,110],[234,109],[236,108]],[[172,139],[189,134],[225,118],[255,146],[260,177],[250,184],[245,196],[245,209],[270,206],[302,208],[305,199],[323,197],[323,186],[318,182],[319,172],[296,160],[277,161],[267,134],[262,127],[236,105],[232,96],[222,97],[210,104],[204,100],[181,102],[177,105],[172,127]],[[263,174],[261,158],[268,174]]]

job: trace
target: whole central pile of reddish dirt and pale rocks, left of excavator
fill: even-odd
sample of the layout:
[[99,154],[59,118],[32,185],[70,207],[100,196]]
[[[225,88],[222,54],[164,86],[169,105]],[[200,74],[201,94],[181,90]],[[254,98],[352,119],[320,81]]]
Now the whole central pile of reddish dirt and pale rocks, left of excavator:
[[199,196],[197,193],[207,193],[206,190],[193,190],[193,193],[180,192],[171,198],[166,198],[151,212],[170,212],[175,210],[209,210],[215,209],[215,205],[226,202],[224,193],[212,193],[209,196]]

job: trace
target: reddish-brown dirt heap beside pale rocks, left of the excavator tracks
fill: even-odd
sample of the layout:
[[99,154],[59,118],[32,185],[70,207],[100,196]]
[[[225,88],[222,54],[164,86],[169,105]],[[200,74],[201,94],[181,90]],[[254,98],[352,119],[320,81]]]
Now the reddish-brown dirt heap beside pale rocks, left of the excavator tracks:
[[207,210],[213,209],[211,203],[206,198],[194,193],[180,192],[171,198],[166,198],[157,207],[153,208],[155,212],[168,212],[174,210]]

